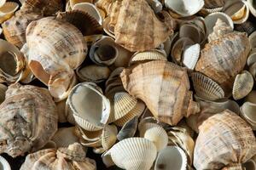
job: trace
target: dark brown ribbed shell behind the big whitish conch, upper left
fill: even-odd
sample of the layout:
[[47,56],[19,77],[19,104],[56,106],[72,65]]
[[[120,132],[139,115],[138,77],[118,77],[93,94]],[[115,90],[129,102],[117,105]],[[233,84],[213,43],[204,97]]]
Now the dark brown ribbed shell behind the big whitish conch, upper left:
[[[102,33],[102,26],[97,22],[97,20],[90,16],[90,14],[81,10],[59,13],[56,18],[73,24],[73,26],[79,28],[79,31],[81,31],[84,36]],[[81,20],[83,20],[83,23],[81,23]]]

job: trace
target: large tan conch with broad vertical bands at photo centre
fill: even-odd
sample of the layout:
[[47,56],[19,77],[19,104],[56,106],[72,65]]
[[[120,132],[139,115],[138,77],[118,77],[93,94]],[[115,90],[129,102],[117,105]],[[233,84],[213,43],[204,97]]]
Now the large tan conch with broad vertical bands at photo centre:
[[200,111],[199,105],[192,100],[192,93],[189,92],[186,70],[171,62],[149,61],[125,69],[120,77],[125,90],[142,99],[160,122],[176,125],[183,116]]

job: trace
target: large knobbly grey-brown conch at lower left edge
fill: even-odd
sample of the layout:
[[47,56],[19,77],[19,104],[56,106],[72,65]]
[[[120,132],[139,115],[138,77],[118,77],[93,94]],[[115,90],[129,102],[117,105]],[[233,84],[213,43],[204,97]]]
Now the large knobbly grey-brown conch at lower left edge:
[[45,88],[12,84],[0,108],[1,153],[16,157],[37,151],[57,130],[55,103]]

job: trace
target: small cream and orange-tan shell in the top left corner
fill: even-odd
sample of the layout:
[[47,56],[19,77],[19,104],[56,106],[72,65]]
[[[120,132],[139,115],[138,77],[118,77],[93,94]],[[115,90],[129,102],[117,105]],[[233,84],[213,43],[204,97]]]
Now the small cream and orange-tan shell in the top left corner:
[[19,8],[18,3],[7,2],[4,3],[2,7],[0,7],[0,24],[2,24],[5,20],[9,20],[14,14],[15,11]]

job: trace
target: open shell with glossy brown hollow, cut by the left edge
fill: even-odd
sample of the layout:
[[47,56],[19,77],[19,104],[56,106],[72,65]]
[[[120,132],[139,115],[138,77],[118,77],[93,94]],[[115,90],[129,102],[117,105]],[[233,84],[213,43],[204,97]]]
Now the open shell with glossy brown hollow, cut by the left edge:
[[15,45],[2,39],[0,39],[0,63],[0,82],[26,82],[26,77],[31,74],[26,65],[26,57]]

